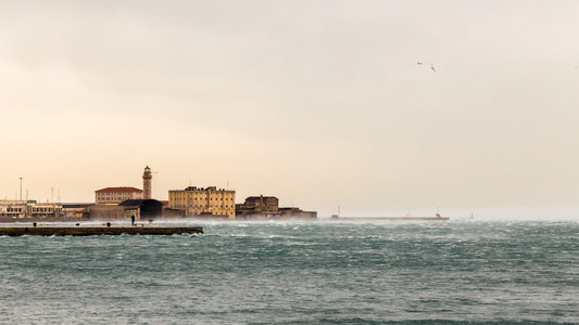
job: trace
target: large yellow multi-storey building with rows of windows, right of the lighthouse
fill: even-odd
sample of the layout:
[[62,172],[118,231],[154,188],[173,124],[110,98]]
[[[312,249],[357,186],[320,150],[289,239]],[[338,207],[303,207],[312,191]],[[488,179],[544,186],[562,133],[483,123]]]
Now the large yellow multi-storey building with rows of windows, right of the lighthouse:
[[236,217],[236,192],[215,186],[206,188],[189,186],[168,192],[168,208],[185,210],[185,214]]

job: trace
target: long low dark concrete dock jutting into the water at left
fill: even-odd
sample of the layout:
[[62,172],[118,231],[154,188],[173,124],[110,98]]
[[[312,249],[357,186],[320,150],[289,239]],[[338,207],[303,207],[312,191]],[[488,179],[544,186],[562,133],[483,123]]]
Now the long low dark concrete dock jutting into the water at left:
[[13,225],[0,226],[0,236],[99,236],[202,234],[201,226]]

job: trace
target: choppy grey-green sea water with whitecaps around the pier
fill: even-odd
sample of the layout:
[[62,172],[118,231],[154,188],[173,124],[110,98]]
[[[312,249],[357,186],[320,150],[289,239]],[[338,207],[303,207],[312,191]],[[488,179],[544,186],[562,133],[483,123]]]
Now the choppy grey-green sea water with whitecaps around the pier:
[[579,323],[579,222],[0,237],[2,324]]

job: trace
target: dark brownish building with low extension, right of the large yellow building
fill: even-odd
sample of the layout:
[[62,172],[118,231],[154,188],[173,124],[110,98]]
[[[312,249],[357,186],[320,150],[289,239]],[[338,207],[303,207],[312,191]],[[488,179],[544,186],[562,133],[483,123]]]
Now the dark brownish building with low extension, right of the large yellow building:
[[315,219],[317,212],[300,208],[280,208],[275,196],[250,196],[243,204],[236,205],[237,219]]

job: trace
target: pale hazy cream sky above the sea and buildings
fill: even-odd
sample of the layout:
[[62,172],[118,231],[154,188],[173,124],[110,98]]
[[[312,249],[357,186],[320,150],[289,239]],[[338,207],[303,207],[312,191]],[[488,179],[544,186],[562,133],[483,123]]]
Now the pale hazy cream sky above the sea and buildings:
[[0,197],[23,178],[30,199],[93,202],[142,188],[148,165],[159,199],[215,185],[319,216],[575,218],[577,12],[0,1]]

